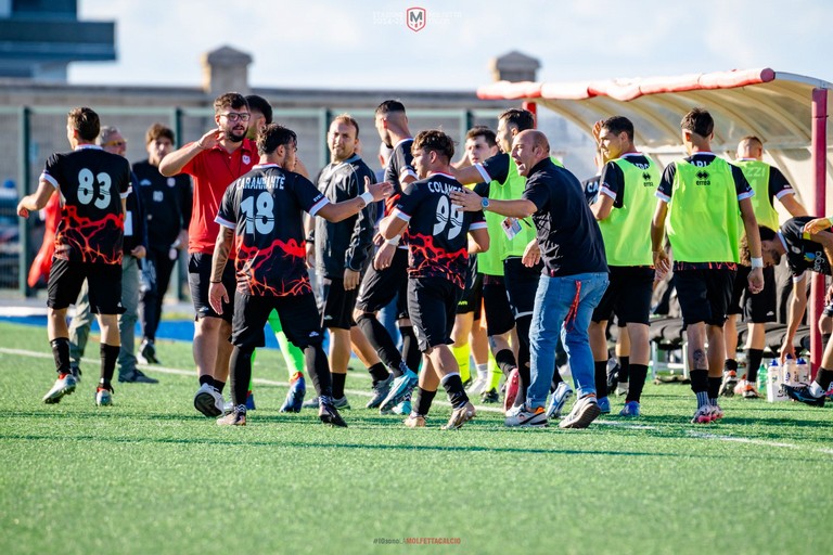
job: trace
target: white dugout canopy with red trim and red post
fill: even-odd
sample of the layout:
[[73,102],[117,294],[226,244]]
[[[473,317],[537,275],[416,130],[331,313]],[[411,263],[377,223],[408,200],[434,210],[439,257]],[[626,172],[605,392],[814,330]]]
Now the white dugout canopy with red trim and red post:
[[[784,172],[808,211],[826,216],[828,206],[833,207],[825,186],[833,179],[826,140],[831,88],[822,79],[764,68],[573,82],[499,81],[480,87],[477,96],[517,100],[534,111],[543,106],[588,133],[599,119],[626,116],[633,121],[638,147],[662,165],[684,155],[683,114],[705,107],[715,118],[714,152],[732,159],[740,139],[757,135],[765,160]],[[820,279],[813,289],[810,319],[816,322],[823,301]],[[815,335],[813,367],[821,360],[821,339]]]

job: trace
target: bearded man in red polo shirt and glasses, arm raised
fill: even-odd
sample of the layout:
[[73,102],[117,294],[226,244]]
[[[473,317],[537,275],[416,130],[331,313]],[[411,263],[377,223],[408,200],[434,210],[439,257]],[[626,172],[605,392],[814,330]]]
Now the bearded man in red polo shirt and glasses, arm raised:
[[[198,141],[175,151],[159,164],[159,172],[170,177],[188,173],[194,181],[191,224],[188,228],[188,285],[196,311],[194,324],[194,362],[200,373],[200,389],[194,408],[206,416],[222,413],[222,388],[229,376],[229,358],[233,302],[223,306],[222,314],[208,302],[212,254],[219,224],[214,221],[222,194],[229,183],[248,172],[257,163],[257,146],[246,139],[251,114],[246,99],[227,92],[214,101],[212,129]],[[230,256],[234,258],[232,253]],[[227,264],[222,282],[234,291],[234,264]]]

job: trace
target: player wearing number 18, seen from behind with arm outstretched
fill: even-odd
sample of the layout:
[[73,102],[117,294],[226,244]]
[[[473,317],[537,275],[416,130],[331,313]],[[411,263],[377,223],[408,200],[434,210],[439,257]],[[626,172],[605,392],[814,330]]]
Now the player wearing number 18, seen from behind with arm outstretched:
[[236,295],[231,354],[234,409],[217,424],[246,424],[246,395],[252,378],[252,354],[265,345],[264,326],[277,310],[286,337],[304,350],[307,372],[319,396],[321,422],[346,426],[333,406],[330,366],[321,341],[323,333],[305,260],[303,211],[331,221],[348,218],[390,193],[389,183],[368,184],[369,192],[332,204],[294,167],[296,135],[271,124],[257,139],[260,164],[236,179],[223,194],[217,223],[208,300],[217,313],[229,302],[222,273],[232,242],[236,248]]

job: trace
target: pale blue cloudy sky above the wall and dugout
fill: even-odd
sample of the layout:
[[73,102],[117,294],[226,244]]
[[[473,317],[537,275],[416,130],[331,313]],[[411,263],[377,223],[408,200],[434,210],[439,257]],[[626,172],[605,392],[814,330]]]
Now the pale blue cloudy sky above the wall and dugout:
[[[539,59],[546,81],[765,66],[833,81],[826,0],[78,3],[81,18],[117,22],[118,61],[73,64],[73,83],[197,87],[201,55],[220,46],[254,57],[255,87],[472,90],[511,50]],[[410,7],[426,10],[419,33]]]

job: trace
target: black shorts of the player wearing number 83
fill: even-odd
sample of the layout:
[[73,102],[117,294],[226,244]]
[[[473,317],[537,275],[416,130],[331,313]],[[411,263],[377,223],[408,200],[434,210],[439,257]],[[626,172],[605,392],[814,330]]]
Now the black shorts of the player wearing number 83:
[[62,310],[78,300],[84,280],[89,285],[90,311],[95,314],[124,314],[121,306],[121,264],[71,262],[52,258],[47,286],[47,306]]

